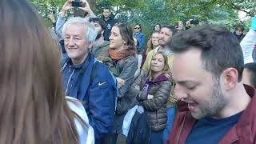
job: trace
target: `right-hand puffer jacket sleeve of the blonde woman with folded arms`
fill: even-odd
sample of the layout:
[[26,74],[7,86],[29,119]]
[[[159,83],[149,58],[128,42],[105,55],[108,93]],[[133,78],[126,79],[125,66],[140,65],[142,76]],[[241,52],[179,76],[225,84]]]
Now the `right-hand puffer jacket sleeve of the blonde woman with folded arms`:
[[146,99],[142,102],[142,106],[149,111],[155,111],[162,107],[162,105],[166,104],[168,98],[170,96],[171,82],[170,81],[162,81],[159,82],[159,89],[153,95],[154,98]]

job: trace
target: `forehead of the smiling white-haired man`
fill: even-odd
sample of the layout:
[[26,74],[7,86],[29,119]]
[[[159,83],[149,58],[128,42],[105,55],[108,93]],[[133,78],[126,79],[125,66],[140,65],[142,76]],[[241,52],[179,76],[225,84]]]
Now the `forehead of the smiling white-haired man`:
[[86,32],[86,26],[82,23],[70,23],[66,26],[65,34],[82,35]]

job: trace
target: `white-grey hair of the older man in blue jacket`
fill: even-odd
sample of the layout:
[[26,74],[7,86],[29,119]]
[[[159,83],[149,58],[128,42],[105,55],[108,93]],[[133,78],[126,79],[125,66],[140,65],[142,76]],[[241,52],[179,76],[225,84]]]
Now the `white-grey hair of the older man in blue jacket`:
[[97,37],[97,32],[94,29],[94,26],[92,26],[90,22],[87,22],[85,18],[81,18],[81,17],[70,18],[67,22],[65,22],[62,30],[62,35],[64,36],[65,34],[66,26],[68,26],[69,24],[75,24],[75,23],[84,24],[86,26],[86,35],[85,35],[86,41],[94,42],[95,38]]

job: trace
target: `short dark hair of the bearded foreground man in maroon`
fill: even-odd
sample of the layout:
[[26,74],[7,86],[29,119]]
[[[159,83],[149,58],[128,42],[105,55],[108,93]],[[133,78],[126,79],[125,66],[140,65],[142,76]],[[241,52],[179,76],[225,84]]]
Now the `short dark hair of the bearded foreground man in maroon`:
[[242,48],[238,40],[223,26],[196,26],[174,35],[166,46],[174,53],[197,48],[205,70],[219,78],[223,70],[238,70],[238,82],[242,80],[244,66]]

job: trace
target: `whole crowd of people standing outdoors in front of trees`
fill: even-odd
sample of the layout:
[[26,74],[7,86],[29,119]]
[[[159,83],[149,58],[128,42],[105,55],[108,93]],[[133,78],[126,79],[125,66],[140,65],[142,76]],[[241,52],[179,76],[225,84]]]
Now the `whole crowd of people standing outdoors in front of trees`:
[[0,1],[0,143],[256,143],[256,16],[247,34],[190,19],[146,41],[81,2],[49,29],[30,2]]

